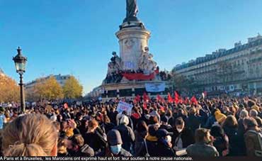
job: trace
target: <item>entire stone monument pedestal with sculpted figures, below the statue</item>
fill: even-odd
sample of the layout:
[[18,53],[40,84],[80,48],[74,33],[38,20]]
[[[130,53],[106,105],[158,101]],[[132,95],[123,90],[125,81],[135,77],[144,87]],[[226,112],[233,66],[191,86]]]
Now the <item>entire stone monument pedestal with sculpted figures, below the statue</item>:
[[[126,70],[134,70],[135,72],[139,70],[137,74],[142,73],[143,75],[155,74],[156,62],[154,62],[153,55],[149,52],[148,48],[150,34],[149,30],[144,28],[144,24],[137,18],[129,18],[128,21],[122,23],[120,30],[115,33],[119,39],[120,57],[114,55],[114,57],[111,58],[110,65],[112,67],[108,64],[108,67],[110,67],[108,68],[108,77],[106,77],[103,84],[99,87],[104,91],[104,93],[101,94],[103,101],[109,101],[110,99],[116,98],[132,99],[137,94],[142,96],[144,92],[147,92],[145,84],[150,83],[164,83],[166,84],[166,88],[162,92],[152,94],[147,92],[149,96],[156,96],[156,94],[161,94],[161,96],[167,95],[171,84],[161,81],[157,76],[147,81],[139,79],[129,80],[125,77],[120,81],[118,79],[115,81],[115,77],[113,77],[114,74],[112,74],[115,72],[122,72],[123,70],[127,73],[128,71]],[[116,76],[118,75],[116,74]],[[107,82],[107,80],[109,81]]]

